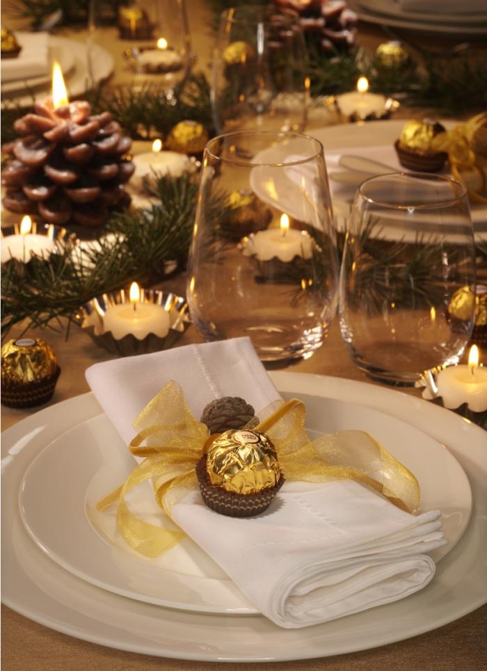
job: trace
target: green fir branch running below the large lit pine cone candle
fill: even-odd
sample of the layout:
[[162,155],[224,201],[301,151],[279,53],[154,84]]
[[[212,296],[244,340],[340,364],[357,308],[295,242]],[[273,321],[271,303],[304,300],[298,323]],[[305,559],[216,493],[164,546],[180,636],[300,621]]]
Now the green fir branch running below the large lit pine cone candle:
[[2,337],[25,318],[30,325],[56,327],[101,293],[131,280],[150,286],[161,279],[168,261],[184,266],[195,213],[198,184],[193,178],[159,179],[163,203],[148,210],[117,213],[107,225],[112,239],[100,236],[83,248],[67,247],[49,259],[33,257],[19,276],[15,261],[2,268]]

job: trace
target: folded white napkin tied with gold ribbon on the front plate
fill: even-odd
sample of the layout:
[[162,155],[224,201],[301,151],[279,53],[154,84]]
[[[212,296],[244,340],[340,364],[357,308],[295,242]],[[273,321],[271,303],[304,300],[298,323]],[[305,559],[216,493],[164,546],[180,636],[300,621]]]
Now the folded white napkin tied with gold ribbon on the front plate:
[[[95,364],[86,378],[120,435],[168,380],[196,417],[212,398],[242,396],[256,410],[278,392],[247,338],[190,345]],[[218,515],[191,492],[173,519],[264,615],[301,627],[406,597],[435,572],[426,552],[445,544],[440,512],[402,512],[365,487],[340,480],[286,483],[266,512]]]

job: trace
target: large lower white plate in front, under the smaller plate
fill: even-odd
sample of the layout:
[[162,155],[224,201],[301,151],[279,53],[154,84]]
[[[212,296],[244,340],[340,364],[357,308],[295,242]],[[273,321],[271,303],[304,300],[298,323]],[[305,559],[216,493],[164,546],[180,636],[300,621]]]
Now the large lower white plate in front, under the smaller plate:
[[368,649],[430,631],[484,604],[486,432],[453,412],[392,389],[302,373],[271,373],[271,377],[282,394],[336,398],[402,419],[447,444],[461,463],[472,487],[470,524],[424,590],[334,622],[289,630],[260,615],[191,613],[126,599],[63,570],[26,533],[17,499],[35,455],[63,432],[101,413],[93,395],[84,394],[47,407],[3,434],[2,571],[8,576],[3,601],[40,624],[83,640],[203,661],[284,661]]

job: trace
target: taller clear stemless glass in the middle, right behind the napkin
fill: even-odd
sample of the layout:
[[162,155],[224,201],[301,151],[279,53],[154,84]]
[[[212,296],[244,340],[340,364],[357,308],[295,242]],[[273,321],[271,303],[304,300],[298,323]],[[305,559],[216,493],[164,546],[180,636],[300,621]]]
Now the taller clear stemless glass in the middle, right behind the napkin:
[[191,318],[207,340],[249,336],[267,362],[321,346],[338,287],[321,143],[271,131],[210,140],[188,277]]

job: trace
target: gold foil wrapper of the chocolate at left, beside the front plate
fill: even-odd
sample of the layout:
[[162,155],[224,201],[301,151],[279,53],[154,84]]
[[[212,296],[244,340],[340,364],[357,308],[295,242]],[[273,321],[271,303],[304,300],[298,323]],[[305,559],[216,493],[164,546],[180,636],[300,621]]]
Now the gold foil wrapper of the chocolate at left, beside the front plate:
[[40,382],[56,369],[54,352],[40,338],[9,340],[1,348],[2,387]]

